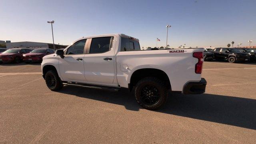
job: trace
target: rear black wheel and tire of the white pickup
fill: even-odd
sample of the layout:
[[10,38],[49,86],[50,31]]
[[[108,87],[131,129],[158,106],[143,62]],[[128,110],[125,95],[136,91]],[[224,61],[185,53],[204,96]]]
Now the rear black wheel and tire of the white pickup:
[[135,98],[143,108],[155,110],[167,101],[166,84],[154,77],[143,78],[136,84]]

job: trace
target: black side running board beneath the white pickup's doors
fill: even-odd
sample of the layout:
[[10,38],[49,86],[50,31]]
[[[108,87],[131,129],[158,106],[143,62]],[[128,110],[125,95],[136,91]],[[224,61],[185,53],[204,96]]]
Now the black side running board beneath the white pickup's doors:
[[93,84],[81,84],[77,82],[62,82],[64,85],[67,86],[80,86],[85,88],[94,88],[100,90],[110,90],[110,91],[119,91],[121,87],[110,87],[110,86],[98,86]]

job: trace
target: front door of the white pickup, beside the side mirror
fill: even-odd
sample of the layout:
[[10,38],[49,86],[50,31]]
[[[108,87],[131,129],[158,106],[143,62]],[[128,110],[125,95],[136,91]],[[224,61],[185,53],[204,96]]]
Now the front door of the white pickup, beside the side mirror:
[[59,58],[60,75],[64,81],[84,82],[84,55],[88,40],[79,40],[64,52],[64,58]]

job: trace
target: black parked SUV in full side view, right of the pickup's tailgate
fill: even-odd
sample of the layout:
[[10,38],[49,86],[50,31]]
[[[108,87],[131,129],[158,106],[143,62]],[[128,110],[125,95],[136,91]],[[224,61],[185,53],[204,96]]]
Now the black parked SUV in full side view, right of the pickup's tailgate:
[[210,51],[214,54],[215,60],[228,60],[228,62],[235,63],[238,61],[249,61],[250,55],[244,52],[239,52],[235,48],[214,48]]

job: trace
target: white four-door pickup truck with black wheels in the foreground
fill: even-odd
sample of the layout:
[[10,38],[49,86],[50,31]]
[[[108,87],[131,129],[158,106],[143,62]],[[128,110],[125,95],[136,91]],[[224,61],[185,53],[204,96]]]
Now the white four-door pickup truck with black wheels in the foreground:
[[203,48],[140,50],[139,40],[124,34],[80,38],[56,54],[44,56],[41,67],[50,90],[63,85],[118,90],[135,88],[146,109],[162,106],[168,92],[202,94]]

